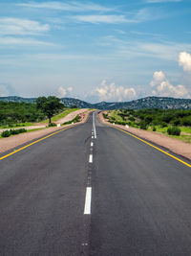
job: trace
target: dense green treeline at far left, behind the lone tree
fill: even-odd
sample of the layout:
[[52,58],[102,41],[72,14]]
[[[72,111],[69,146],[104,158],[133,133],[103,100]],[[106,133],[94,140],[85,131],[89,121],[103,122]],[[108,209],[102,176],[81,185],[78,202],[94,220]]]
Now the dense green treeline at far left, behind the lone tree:
[[[57,109],[59,113],[62,109]],[[3,102],[0,101],[0,126],[9,126],[13,124],[26,122],[40,122],[47,118],[47,113],[37,108],[36,104]]]

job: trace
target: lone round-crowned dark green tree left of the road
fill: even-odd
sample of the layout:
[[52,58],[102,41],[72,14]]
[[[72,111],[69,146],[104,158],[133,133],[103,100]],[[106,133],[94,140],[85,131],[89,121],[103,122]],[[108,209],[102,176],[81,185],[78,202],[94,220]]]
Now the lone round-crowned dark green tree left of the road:
[[55,113],[57,113],[60,109],[64,107],[62,103],[60,103],[60,99],[49,96],[49,97],[38,97],[36,99],[36,107],[40,109],[48,118],[49,124],[52,124],[52,117]]

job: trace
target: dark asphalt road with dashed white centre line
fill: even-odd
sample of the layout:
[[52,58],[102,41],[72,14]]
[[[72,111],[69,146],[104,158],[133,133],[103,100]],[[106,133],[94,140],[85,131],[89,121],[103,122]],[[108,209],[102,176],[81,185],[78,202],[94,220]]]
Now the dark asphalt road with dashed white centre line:
[[191,168],[93,114],[0,160],[0,255],[191,255]]

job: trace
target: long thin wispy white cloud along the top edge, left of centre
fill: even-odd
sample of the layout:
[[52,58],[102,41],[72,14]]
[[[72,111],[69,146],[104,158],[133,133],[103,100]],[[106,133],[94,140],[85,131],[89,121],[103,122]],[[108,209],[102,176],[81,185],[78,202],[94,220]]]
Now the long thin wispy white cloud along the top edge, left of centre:
[[68,11],[68,12],[108,12],[111,11],[110,8],[97,5],[95,3],[78,3],[74,1],[68,2],[57,2],[57,1],[50,1],[50,2],[30,2],[30,3],[22,3],[17,4],[17,6],[28,7],[28,8],[40,8],[40,9],[51,9],[51,10],[58,10],[58,11]]

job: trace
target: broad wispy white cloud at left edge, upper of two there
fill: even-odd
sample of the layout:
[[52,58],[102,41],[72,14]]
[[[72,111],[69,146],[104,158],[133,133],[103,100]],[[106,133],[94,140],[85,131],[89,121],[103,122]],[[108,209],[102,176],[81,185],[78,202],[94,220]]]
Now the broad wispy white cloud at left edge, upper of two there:
[[50,30],[48,24],[12,17],[0,18],[0,35],[39,35]]

